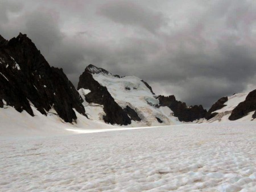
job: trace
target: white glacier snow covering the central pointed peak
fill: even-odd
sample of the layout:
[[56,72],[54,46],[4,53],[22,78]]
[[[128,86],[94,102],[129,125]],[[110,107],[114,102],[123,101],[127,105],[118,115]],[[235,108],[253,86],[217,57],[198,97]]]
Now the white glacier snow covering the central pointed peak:
[[[134,76],[115,77],[111,73],[92,73],[94,80],[98,81],[102,86],[106,86],[109,93],[114,98],[115,102],[119,106],[125,108],[129,106],[135,110],[141,118],[141,122],[133,121],[131,125],[127,127],[143,127],[143,126],[163,126],[172,124],[181,124],[181,122],[172,116],[173,112],[168,107],[155,107],[159,104],[158,99],[148,89],[148,87],[142,82],[141,79]],[[84,97],[82,93],[83,89],[79,90],[79,93]],[[85,111],[88,116],[91,116],[94,120],[102,121],[103,110],[93,110],[92,106],[88,103],[84,103]],[[88,112],[87,112],[88,111]],[[163,123],[159,123],[156,118],[162,120]]]

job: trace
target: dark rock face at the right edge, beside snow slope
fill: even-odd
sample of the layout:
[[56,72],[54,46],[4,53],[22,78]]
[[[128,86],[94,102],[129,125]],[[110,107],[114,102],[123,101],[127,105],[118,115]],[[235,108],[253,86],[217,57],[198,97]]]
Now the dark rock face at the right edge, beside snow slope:
[[[229,120],[240,119],[251,111],[256,111],[256,89],[247,95],[245,101],[239,103],[238,106],[234,108],[229,116]],[[255,113],[256,112],[253,114],[253,118],[255,118]]]

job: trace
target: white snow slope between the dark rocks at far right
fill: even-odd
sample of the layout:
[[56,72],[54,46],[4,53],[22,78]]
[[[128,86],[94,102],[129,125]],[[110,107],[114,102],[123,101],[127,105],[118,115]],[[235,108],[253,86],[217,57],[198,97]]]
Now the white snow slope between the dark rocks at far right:
[[[224,103],[224,105],[226,105],[226,106],[221,108],[220,110],[213,111],[213,112],[217,112],[218,114],[216,116],[214,116],[212,119],[209,119],[208,121],[204,120],[204,122],[212,123],[212,122],[228,122],[228,121],[230,121],[228,118],[229,118],[230,114],[232,113],[233,109],[236,108],[236,106],[238,106],[239,103],[245,101],[248,94],[249,93],[238,93],[238,94],[234,94],[234,95],[228,97],[228,101]],[[254,114],[254,111],[250,112],[245,117],[238,119],[236,121],[238,121],[238,122],[250,121],[253,119],[252,118],[253,114]]]

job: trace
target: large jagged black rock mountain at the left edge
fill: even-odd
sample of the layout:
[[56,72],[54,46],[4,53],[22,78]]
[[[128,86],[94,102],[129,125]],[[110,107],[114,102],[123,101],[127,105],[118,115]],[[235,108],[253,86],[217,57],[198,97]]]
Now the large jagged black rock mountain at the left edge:
[[76,120],[73,108],[85,115],[82,99],[63,70],[49,66],[26,35],[10,41],[0,38],[0,72],[0,107],[4,99],[34,116],[31,102],[44,115],[54,108],[65,122]]

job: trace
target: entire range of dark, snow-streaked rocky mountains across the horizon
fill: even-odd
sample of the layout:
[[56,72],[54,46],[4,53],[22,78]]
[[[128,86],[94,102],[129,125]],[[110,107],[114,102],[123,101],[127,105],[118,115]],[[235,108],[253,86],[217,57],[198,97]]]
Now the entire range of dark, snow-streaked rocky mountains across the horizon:
[[[174,95],[155,95],[147,82],[120,77],[88,65],[78,91],[62,69],[49,66],[23,34],[10,41],[0,35],[0,107],[31,116],[55,114],[76,122],[77,114],[121,126],[164,126],[184,122],[222,122],[256,118],[256,90],[219,99],[207,112],[187,106]],[[86,111],[86,114],[85,114]]]

